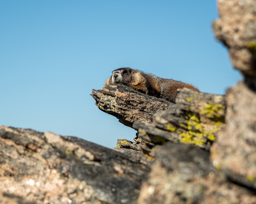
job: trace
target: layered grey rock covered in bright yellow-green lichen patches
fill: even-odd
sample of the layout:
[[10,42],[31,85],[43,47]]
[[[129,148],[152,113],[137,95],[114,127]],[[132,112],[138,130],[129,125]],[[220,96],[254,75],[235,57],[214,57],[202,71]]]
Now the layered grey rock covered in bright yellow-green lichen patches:
[[176,104],[158,110],[152,124],[135,121],[133,128],[138,130],[139,138],[152,143],[173,141],[209,149],[216,133],[225,126],[225,110],[223,96],[183,88]]

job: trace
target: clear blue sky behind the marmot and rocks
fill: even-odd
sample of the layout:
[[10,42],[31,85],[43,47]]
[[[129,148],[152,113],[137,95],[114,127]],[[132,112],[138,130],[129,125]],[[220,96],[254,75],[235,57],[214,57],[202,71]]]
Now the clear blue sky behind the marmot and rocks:
[[90,96],[120,67],[224,94],[242,77],[215,40],[215,1],[0,1],[0,124],[106,147],[136,131]]

